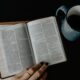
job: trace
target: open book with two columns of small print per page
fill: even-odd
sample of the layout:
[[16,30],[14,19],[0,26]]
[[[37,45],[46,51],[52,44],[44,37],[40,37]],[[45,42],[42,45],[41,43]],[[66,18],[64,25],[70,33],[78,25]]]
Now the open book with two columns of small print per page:
[[55,17],[14,25],[0,25],[1,77],[15,75],[41,61],[66,61]]

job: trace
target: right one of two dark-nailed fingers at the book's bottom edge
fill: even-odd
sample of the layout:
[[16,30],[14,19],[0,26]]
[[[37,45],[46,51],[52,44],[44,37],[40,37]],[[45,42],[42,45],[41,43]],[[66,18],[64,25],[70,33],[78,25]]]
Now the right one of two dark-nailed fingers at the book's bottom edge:
[[38,71],[34,73],[32,77],[30,77],[29,80],[37,80],[47,69],[48,64],[44,64]]

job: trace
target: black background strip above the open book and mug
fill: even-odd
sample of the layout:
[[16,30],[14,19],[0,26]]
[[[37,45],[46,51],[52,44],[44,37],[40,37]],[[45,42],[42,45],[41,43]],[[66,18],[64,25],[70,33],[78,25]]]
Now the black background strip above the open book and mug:
[[32,20],[54,15],[62,5],[79,4],[78,0],[0,0],[0,21]]

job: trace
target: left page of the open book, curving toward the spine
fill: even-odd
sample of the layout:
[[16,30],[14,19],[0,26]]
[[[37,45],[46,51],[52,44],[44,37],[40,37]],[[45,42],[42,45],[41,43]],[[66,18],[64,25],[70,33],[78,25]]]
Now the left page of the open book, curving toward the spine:
[[2,77],[17,74],[33,64],[25,26],[25,24],[0,25]]

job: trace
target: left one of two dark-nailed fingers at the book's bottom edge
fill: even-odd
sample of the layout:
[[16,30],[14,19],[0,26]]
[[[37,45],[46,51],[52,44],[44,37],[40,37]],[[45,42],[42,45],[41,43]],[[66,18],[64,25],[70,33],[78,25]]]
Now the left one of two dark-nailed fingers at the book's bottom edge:
[[32,68],[30,68],[24,73],[24,75],[21,77],[21,80],[29,79],[35,73],[35,71],[38,70],[41,66],[41,64],[34,65]]

